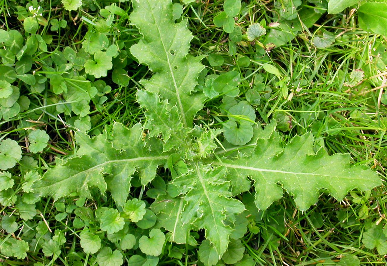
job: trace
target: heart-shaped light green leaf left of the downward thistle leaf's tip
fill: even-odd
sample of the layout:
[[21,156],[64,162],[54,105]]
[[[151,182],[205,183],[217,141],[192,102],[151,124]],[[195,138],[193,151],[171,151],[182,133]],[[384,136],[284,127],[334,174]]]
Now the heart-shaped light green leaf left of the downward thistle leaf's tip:
[[160,229],[152,229],[149,232],[149,238],[143,235],[139,240],[140,249],[143,253],[150,256],[159,256],[163,249],[165,235]]

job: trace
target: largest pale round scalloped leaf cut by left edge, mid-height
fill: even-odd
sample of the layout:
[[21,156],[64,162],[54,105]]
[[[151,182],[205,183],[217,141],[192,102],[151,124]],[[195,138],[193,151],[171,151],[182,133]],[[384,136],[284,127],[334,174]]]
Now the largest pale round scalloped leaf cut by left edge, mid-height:
[[17,142],[9,138],[0,141],[0,169],[7,170],[22,159],[22,150]]

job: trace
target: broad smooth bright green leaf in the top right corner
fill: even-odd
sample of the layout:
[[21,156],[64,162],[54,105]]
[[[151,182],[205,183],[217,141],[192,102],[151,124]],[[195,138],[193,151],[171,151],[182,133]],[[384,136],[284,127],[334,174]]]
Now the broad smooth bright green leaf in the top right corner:
[[358,14],[360,27],[387,36],[387,3],[364,3]]

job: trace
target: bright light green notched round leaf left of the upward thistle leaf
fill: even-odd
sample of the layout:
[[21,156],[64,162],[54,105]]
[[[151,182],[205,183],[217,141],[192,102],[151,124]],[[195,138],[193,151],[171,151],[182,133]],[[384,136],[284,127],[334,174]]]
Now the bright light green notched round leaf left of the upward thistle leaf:
[[111,56],[107,56],[106,52],[98,51],[94,54],[94,60],[89,59],[85,63],[85,71],[96,78],[106,77],[108,70],[113,67],[111,60]]

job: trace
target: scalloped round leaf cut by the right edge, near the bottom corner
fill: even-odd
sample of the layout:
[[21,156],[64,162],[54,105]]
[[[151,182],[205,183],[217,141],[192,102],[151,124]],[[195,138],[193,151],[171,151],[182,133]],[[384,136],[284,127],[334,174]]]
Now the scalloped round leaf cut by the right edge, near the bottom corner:
[[382,223],[368,229],[363,234],[362,242],[368,249],[374,249],[376,247],[379,255],[387,254],[387,237],[383,232]]

